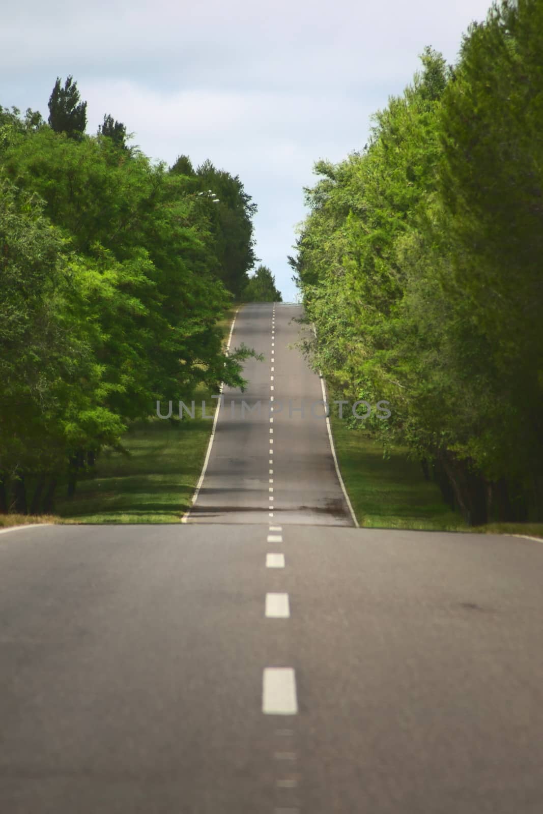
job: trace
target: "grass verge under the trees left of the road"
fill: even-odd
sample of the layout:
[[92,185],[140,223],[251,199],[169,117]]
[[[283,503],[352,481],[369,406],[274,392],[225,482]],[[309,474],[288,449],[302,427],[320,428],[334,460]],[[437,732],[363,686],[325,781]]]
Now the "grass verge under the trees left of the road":
[[[237,305],[221,320],[225,340]],[[76,494],[65,497],[60,484],[54,516],[0,515],[0,526],[22,523],[179,523],[190,505],[208,448],[217,400],[199,387],[195,419],[171,421],[151,418],[134,424],[122,439],[129,455],[106,449],[93,475],[78,480]],[[190,399],[186,400],[190,406]],[[173,417],[177,416],[173,405]],[[163,403],[162,409],[166,409]]]

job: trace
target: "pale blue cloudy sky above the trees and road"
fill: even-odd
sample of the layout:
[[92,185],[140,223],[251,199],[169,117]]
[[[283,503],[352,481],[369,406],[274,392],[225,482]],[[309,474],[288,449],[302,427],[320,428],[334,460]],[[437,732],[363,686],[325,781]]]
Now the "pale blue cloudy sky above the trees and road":
[[[491,0],[58,0],[2,10],[0,104],[47,119],[56,77],[87,102],[87,133],[110,113],[152,160],[189,155],[239,175],[258,206],[255,252],[286,302],[287,255],[319,159],[361,150],[370,116],[421,68],[448,63]],[[257,264],[258,265],[258,264]]]

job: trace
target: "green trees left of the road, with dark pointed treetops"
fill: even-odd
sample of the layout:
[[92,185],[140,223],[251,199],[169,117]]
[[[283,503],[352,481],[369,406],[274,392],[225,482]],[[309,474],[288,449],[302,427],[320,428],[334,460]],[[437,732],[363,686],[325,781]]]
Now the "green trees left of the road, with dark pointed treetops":
[[109,114],[87,135],[72,77],[49,110],[0,107],[0,511],[24,514],[157,400],[243,387],[217,322],[259,260],[239,176],[151,164]]

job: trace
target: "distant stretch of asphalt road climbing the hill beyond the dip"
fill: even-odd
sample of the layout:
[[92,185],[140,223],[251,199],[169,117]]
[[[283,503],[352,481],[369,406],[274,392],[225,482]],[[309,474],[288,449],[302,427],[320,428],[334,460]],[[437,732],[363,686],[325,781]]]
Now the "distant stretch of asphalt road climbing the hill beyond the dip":
[[267,523],[272,502],[282,523],[353,525],[318,404],[321,380],[294,348],[301,315],[300,305],[251,304],[240,310],[232,347],[246,344],[264,361],[247,362],[246,392],[225,389],[190,522]]

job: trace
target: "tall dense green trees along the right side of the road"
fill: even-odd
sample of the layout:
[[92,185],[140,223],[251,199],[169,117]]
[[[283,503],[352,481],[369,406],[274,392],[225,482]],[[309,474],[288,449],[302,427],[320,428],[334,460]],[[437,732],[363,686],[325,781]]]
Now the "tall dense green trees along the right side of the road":
[[319,160],[289,256],[304,349],[467,523],[543,519],[543,4],[430,46],[363,151]]

